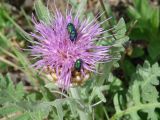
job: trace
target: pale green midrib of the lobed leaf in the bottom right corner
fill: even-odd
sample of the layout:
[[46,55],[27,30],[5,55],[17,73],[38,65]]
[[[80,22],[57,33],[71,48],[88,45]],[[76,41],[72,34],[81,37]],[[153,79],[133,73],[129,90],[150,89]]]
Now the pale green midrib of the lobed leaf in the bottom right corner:
[[147,104],[140,104],[138,106],[133,106],[133,107],[127,108],[126,110],[123,110],[114,114],[110,120],[116,120],[117,118],[123,115],[138,111],[140,109],[149,109],[149,108],[155,108],[155,107],[160,107],[160,103],[147,103]]

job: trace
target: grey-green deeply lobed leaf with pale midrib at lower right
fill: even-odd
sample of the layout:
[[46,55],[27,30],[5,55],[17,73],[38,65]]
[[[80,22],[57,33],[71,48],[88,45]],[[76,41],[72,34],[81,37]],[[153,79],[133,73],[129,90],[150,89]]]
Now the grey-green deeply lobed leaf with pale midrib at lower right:
[[147,119],[158,120],[155,112],[155,108],[160,108],[156,89],[156,85],[159,85],[158,77],[160,77],[160,67],[157,63],[151,66],[146,61],[143,67],[138,66],[126,96],[127,108],[120,109],[121,103],[118,102],[119,98],[116,95],[114,103],[117,112],[112,119],[129,114],[131,120],[143,120],[145,118],[138,114],[138,111],[142,111],[147,113]]

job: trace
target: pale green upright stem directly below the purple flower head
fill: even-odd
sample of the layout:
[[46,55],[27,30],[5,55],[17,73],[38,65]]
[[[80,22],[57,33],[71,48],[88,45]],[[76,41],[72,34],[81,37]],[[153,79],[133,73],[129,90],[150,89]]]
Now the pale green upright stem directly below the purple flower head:
[[[71,91],[71,97],[79,100],[81,103],[83,103],[83,99],[80,97],[79,89],[78,88],[70,88]],[[80,120],[90,120],[91,116],[89,113],[82,111],[80,109],[77,109],[77,112],[79,114]]]

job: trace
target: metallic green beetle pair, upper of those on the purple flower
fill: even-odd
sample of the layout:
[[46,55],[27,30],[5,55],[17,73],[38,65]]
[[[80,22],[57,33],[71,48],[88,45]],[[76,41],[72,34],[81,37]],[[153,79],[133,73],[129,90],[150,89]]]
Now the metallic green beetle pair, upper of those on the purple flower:
[[77,39],[77,31],[75,26],[72,23],[68,23],[67,25],[67,30],[69,33],[69,38],[73,42]]

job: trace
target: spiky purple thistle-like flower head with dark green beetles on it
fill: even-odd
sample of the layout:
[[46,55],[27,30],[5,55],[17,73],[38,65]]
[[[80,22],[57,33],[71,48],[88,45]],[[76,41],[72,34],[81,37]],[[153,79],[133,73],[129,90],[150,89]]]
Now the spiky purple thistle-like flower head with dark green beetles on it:
[[[67,25],[72,23],[76,30],[76,39],[70,38]],[[74,82],[74,75],[80,75],[80,81],[90,72],[96,71],[96,64],[110,60],[109,46],[97,46],[95,43],[104,33],[101,23],[96,19],[79,20],[79,13],[72,16],[66,12],[63,16],[56,10],[50,24],[37,22],[34,18],[35,33],[32,36],[38,40],[32,47],[31,53],[38,58],[33,65],[37,69],[48,68],[56,74],[56,83],[59,87],[68,89]],[[81,60],[79,71],[75,63]]]

